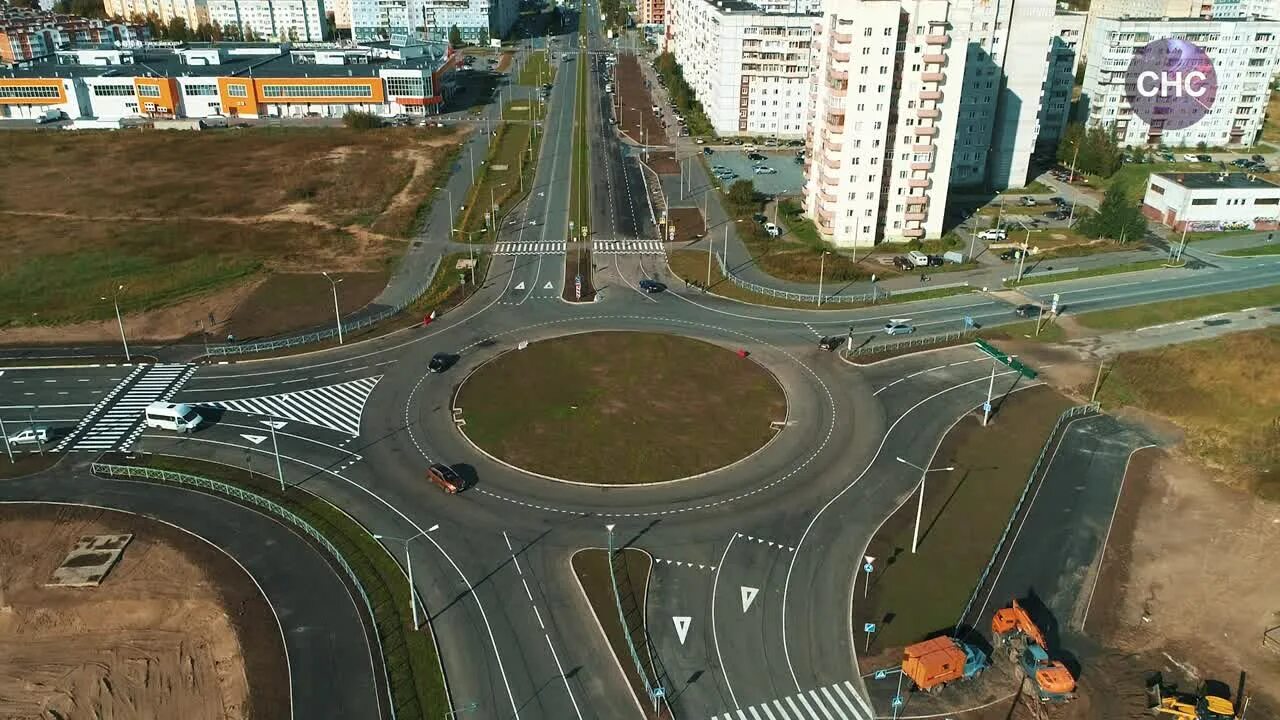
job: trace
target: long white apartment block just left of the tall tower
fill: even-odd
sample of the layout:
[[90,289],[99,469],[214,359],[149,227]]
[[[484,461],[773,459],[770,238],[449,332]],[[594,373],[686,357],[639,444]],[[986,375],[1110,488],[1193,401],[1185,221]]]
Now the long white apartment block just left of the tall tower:
[[804,136],[818,15],[671,0],[667,17],[667,46],[718,135]]

